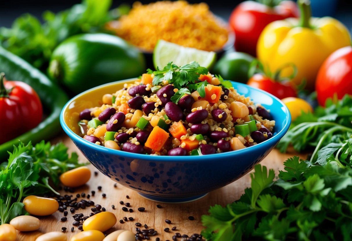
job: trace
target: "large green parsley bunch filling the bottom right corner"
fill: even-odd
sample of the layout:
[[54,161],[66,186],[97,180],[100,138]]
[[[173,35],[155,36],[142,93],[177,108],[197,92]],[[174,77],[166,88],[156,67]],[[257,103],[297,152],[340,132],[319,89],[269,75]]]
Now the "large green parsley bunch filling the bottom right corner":
[[273,181],[274,170],[256,165],[251,188],[238,201],[202,216],[202,235],[212,241],[351,240],[352,170],[298,157],[284,166]]

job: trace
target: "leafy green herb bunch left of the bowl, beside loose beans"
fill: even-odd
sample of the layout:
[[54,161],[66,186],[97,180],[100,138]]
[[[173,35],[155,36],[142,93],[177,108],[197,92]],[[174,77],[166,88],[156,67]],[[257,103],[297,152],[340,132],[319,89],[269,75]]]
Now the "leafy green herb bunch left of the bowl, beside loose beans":
[[85,164],[78,164],[75,152],[69,157],[62,144],[50,145],[44,141],[33,146],[20,143],[14,147],[8,162],[0,165],[0,224],[25,214],[23,197],[57,193],[49,185],[59,184],[59,175]]

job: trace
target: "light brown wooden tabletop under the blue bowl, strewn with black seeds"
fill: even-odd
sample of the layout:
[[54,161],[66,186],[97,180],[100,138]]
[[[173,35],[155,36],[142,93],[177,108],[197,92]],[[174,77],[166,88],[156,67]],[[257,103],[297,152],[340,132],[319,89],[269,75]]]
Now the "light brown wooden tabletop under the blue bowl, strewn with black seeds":
[[[53,140],[52,143],[62,141],[69,147],[69,151],[76,151],[80,157],[80,161],[86,162],[87,159],[81,154],[81,152],[76,148],[74,143],[66,136],[62,135],[61,137]],[[278,170],[283,169],[283,162],[293,156],[293,154],[281,154],[278,150],[274,149],[270,152],[270,154],[261,162],[262,165],[266,165],[266,167],[274,169],[276,174],[278,174]],[[210,192],[205,197],[201,198],[200,200],[189,202],[189,203],[182,203],[182,204],[167,204],[167,203],[158,203],[154,201],[147,200],[140,196],[136,191],[132,189],[128,189],[122,187],[121,185],[117,184],[114,187],[115,182],[110,180],[108,177],[103,175],[101,172],[98,175],[94,175],[94,171],[97,171],[93,165],[88,165],[88,167],[92,170],[92,177],[90,178],[89,182],[79,188],[75,189],[75,193],[65,193],[64,191],[60,191],[61,195],[69,194],[74,195],[86,193],[91,194],[91,191],[95,191],[95,196],[90,197],[90,200],[94,201],[95,204],[101,204],[102,207],[105,207],[107,211],[113,212],[117,217],[117,223],[115,226],[107,231],[110,233],[117,229],[125,229],[131,230],[132,232],[136,233],[135,223],[139,222],[142,223],[141,229],[144,229],[143,225],[147,224],[147,229],[155,229],[158,234],[156,236],[152,236],[150,240],[155,240],[156,237],[159,237],[160,240],[172,240],[172,236],[175,233],[181,233],[191,235],[194,233],[200,233],[202,230],[202,223],[201,223],[201,216],[203,214],[207,214],[209,206],[213,206],[214,204],[220,204],[225,206],[227,203],[231,203],[237,200],[243,193],[246,187],[250,186],[250,174],[243,176],[239,180],[222,187],[218,190],[214,190]],[[101,186],[101,191],[98,191],[98,186]],[[102,197],[102,194],[106,194],[106,198]],[[126,198],[126,195],[129,196],[129,199]],[[87,197],[83,198],[87,199]],[[80,198],[78,198],[80,200]],[[125,212],[121,208],[125,207],[125,205],[121,205],[120,201],[129,202],[133,209],[132,213]],[[160,204],[162,208],[157,208],[156,205]],[[112,209],[112,205],[115,205],[115,209]],[[137,210],[139,207],[144,207],[145,211],[140,212]],[[89,213],[92,211],[90,210],[91,207],[86,209],[78,209],[75,211],[76,213],[83,213],[84,216],[89,216]],[[34,241],[38,236],[42,233],[47,233],[51,231],[61,231],[62,227],[66,227],[66,234],[68,240],[81,232],[77,229],[77,227],[73,226],[72,223],[74,222],[73,214],[70,213],[69,208],[67,221],[61,221],[61,218],[64,217],[63,213],[57,211],[56,213],[46,216],[46,217],[39,217],[41,221],[41,226],[39,231],[37,232],[19,232],[17,240],[18,241]],[[120,223],[119,220],[123,219],[123,217],[133,217],[133,221],[127,221],[124,223]],[[194,220],[191,221],[188,219],[189,216],[194,216]],[[165,223],[165,219],[171,220],[171,224]],[[171,231],[172,227],[177,227],[175,231]],[[74,232],[71,232],[71,228],[74,227]],[[165,232],[164,228],[170,228],[169,232]]]

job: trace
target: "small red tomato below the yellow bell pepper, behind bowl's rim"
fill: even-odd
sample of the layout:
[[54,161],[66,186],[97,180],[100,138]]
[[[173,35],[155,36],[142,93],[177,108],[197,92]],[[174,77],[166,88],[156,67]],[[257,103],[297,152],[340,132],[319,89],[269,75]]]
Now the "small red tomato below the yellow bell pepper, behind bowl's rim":
[[279,99],[296,97],[296,90],[290,82],[276,82],[263,74],[254,74],[247,85],[269,92]]

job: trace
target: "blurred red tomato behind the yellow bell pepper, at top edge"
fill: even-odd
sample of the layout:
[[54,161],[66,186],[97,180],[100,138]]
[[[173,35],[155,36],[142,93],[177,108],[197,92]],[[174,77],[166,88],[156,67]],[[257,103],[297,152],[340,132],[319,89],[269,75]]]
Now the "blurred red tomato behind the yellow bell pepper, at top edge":
[[233,10],[229,19],[236,36],[236,51],[256,56],[257,41],[264,27],[276,20],[297,18],[298,13],[293,1],[282,1],[274,7],[254,1],[242,2]]

